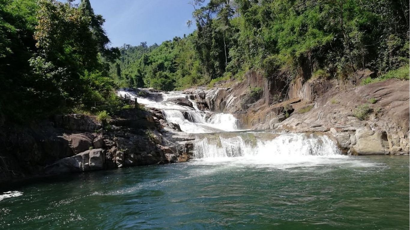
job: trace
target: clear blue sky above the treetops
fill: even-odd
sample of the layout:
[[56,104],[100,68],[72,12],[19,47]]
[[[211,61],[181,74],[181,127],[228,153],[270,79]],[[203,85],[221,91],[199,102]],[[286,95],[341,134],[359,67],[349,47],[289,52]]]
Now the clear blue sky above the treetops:
[[[111,46],[161,44],[196,29],[187,27],[194,8],[190,0],[90,0],[94,13],[105,18]],[[77,1],[79,2],[79,1]]]

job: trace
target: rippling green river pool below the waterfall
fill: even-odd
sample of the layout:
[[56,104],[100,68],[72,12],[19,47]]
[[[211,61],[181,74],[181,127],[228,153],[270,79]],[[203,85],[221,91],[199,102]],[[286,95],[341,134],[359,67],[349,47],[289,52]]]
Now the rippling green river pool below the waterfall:
[[408,156],[193,160],[0,188],[17,194],[0,229],[409,229]]

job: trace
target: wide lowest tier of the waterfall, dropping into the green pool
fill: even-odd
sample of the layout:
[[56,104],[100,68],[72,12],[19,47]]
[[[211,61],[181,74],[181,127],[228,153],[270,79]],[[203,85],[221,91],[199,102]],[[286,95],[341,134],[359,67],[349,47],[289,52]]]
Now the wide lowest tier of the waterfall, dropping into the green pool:
[[214,133],[197,135],[194,158],[337,156],[326,135],[307,133]]

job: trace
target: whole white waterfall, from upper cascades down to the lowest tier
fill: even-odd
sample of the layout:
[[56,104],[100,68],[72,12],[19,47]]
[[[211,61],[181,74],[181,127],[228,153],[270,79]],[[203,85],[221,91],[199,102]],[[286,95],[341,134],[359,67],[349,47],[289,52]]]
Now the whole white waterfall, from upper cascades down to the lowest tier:
[[[280,159],[285,162],[306,157],[341,156],[335,143],[326,135],[238,132],[238,120],[232,114],[210,115],[200,111],[192,95],[179,91],[149,93],[149,96],[141,97],[132,90],[119,90],[118,95],[136,97],[137,101],[146,107],[162,109],[168,122],[179,124],[184,132],[196,134],[196,159],[246,158],[251,161],[259,159],[258,163],[263,163],[278,162]],[[171,98],[185,98],[191,101],[194,108],[167,101]]]

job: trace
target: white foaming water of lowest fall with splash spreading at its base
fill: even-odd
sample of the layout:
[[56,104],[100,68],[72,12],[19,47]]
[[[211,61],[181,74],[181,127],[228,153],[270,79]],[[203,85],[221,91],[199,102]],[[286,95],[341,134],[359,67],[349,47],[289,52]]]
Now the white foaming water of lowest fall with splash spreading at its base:
[[384,167],[374,162],[342,155],[335,143],[326,135],[303,133],[280,133],[272,140],[255,136],[253,143],[232,133],[228,137],[220,135],[219,138],[206,138],[205,134],[205,138],[194,144],[194,157],[196,159],[192,160],[191,164],[209,165],[221,170],[254,167],[264,170],[311,171],[323,165],[338,165],[352,170]]

